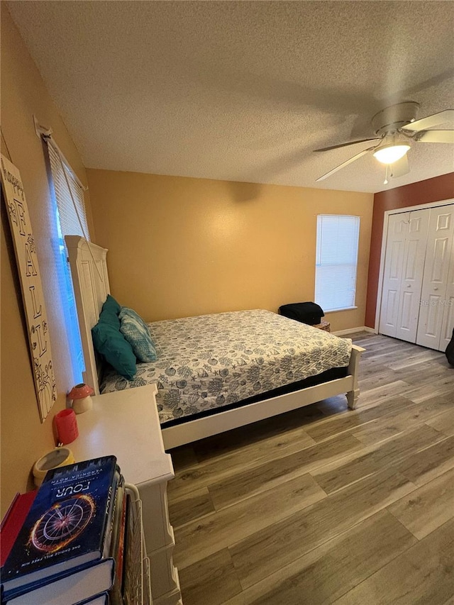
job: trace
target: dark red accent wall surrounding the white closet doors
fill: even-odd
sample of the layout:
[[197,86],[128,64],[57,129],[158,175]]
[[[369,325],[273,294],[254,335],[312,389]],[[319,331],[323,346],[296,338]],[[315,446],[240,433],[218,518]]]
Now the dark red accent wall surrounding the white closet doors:
[[367,279],[367,302],[365,326],[375,326],[377,307],[378,278],[380,273],[380,254],[382,251],[383,218],[387,210],[430,204],[432,201],[454,198],[454,172],[442,174],[417,183],[378,192],[374,196],[372,214],[372,233],[370,238],[369,277]]

